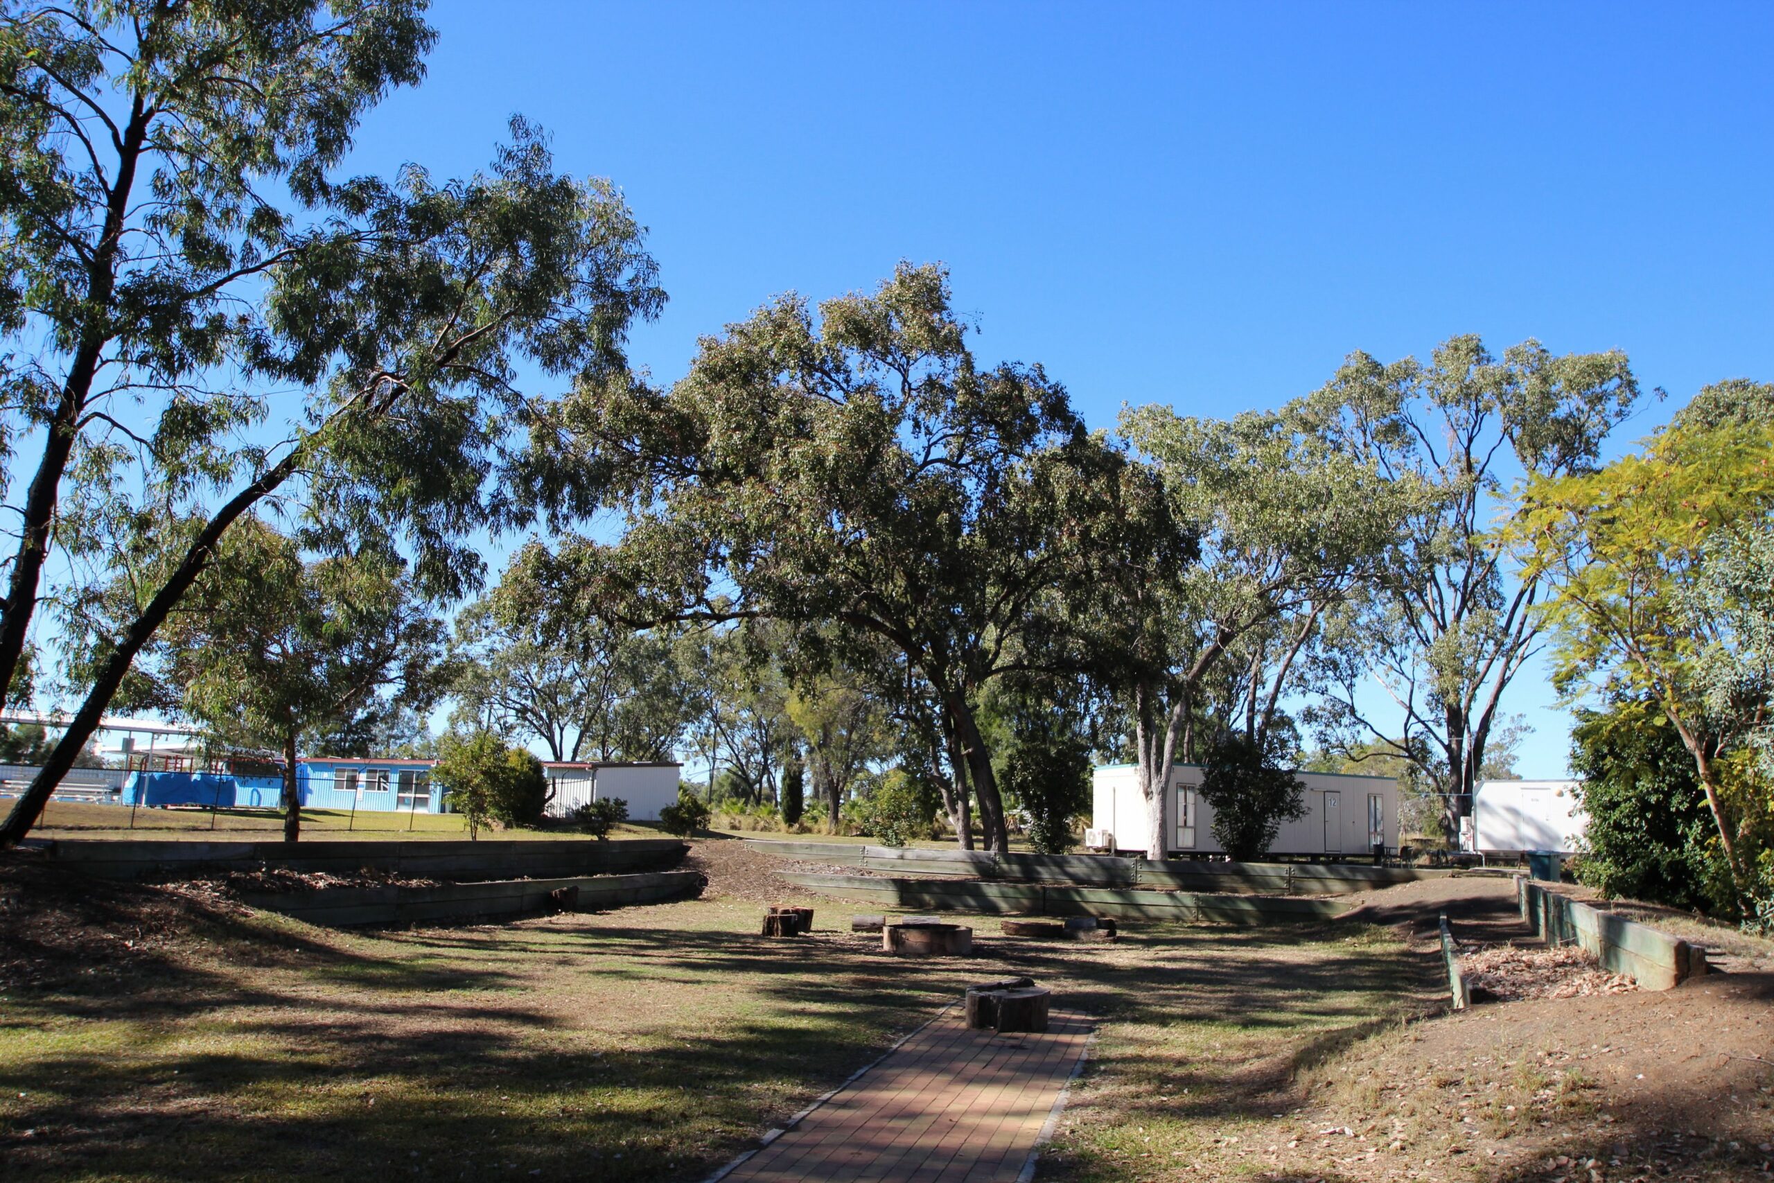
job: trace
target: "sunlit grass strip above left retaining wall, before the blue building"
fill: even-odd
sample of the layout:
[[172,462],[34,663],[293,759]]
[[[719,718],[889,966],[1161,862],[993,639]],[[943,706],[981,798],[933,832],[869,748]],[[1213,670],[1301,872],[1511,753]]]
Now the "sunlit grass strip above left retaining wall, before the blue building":
[[[131,825],[133,823],[133,825]],[[135,809],[126,805],[89,805],[83,802],[50,802],[32,837],[105,837],[105,839],[184,839],[222,841],[254,839],[275,842],[284,837],[282,814],[270,809]],[[467,839],[468,825],[461,814],[399,814],[360,811],[351,816],[344,809],[303,809],[302,837],[325,841],[410,841],[410,839]],[[484,832],[481,837],[498,839],[589,839],[591,835],[568,828],[516,828]],[[623,823],[610,837],[665,837],[656,823]]]

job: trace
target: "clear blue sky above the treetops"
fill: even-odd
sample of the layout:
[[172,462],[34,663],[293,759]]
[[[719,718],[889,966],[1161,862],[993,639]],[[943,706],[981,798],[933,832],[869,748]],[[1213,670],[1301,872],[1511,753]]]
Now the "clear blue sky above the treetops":
[[[1774,4],[468,4],[357,167],[484,165],[511,114],[616,181],[658,378],[765,298],[942,261],[986,360],[1093,426],[1229,415],[1350,349],[1625,349],[1774,380]],[[1522,772],[1565,722],[1533,679]]]

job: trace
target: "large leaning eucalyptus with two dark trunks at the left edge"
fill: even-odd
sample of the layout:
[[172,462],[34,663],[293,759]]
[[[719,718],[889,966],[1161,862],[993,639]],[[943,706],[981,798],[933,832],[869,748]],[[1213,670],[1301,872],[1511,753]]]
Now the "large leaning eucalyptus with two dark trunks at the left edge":
[[[472,589],[465,539],[534,513],[516,470],[546,399],[518,372],[621,371],[626,326],[663,302],[616,190],[555,176],[527,124],[467,181],[332,176],[358,117],[420,78],[419,11],[193,0],[0,20],[4,390],[9,438],[43,442],[0,679],[44,598],[85,654],[83,701],[0,844],[245,513],[279,500],[305,544],[404,548],[424,594]],[[192,529],[160,539],[169,518]],[[94,617],[142,537],[177,546],[163,580],[133,617]]]

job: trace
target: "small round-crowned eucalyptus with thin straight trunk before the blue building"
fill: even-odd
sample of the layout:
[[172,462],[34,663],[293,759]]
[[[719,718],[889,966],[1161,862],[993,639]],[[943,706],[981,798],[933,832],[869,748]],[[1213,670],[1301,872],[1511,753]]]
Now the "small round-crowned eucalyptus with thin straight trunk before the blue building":
[[[128,612],[131,587],[117,592]],[[302,745],[429,709],[444,670],[444,624],[403,564],[376,553],[305,559],[294,539],[247,516],[135,674],[156,683],[156,706],[213,740],[284,757],[284,841],[294,842]]]

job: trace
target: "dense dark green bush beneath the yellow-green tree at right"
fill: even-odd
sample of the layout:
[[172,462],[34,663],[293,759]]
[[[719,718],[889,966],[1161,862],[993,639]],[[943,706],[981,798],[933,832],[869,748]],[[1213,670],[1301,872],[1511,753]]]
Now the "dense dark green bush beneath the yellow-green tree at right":
[[1579,883],[1607,897],[1717,910],[1708,885],[1721,876],[1730,883],[1730,873],[1719,862],[1707,795],[1694,757],[1655,704],[1579,711],[1570,766],[1588,814]]

